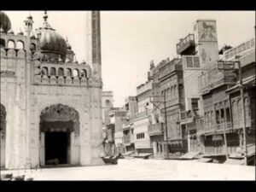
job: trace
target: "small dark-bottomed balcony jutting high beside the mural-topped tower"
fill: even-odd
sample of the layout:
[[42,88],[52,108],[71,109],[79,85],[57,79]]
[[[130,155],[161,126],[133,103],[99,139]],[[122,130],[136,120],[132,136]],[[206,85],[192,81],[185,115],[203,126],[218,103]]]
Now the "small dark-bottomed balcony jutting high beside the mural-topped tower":
[[195,37],[194,34],[189,34],[186,38],[180,39],[176,44],[177,55],[193,55],[195,52]]

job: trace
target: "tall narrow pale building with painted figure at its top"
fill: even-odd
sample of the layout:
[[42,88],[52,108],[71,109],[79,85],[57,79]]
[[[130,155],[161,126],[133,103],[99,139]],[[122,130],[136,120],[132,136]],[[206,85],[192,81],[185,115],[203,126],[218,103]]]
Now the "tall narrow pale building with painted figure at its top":
[[195,122],[202,113],[198,76],[207,66],[218,60],[218,38],[215,20],[196,20],[194,32],[177,44],[177,54],[183,63],[183,101],[184,109],[180,125],[188,134],[188,151],[200,150],[199,137],[196,136]]

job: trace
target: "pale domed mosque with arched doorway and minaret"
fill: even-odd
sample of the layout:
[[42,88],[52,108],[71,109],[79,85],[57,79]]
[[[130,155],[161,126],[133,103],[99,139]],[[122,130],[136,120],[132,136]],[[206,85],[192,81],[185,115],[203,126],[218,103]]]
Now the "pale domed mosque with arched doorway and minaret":
[[1,167],[102,165],[100,13],[89,12],[88,63],[49,25],[11,30],[1,12]]

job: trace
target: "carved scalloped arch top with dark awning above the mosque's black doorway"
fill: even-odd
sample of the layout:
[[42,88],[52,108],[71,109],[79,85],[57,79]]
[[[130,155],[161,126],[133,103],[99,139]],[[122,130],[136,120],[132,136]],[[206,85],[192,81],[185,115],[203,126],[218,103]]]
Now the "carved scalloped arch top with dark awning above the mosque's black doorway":
[[79,135],[79,112],[67,105],[44,108],[40,115],[40,131],[74,131]]

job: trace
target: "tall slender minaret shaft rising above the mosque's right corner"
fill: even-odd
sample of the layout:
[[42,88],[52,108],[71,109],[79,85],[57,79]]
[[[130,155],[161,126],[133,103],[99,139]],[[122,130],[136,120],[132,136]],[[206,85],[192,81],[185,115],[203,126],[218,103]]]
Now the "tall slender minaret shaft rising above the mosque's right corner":
[[87,14],[87,61],[96,78],[102,78],[101,16],[100,11]]

